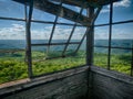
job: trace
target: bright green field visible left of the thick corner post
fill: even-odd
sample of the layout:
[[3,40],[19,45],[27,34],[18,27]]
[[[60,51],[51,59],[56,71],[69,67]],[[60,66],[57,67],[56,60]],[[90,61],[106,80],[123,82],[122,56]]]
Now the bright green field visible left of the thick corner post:
[[[71,54],[71,53],[69,53]],[[32,72],[34,76],[63,70],[66,68],[81,66],[85,64],[84,53],[68,57],[45,59],[45,57],[57,57],[59,53],[44,55],[43,52],[32,53]],[[13,54],[0,54],[0,84],[28,77],[28,66],[24,62],[24,52]]]

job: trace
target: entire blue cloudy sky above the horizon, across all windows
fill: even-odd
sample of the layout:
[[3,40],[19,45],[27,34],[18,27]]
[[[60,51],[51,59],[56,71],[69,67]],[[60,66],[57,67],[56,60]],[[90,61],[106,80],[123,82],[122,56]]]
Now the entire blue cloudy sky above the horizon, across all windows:
[[[80,8],[69,7],[66,8],[79,12]],[[110,6],[105,6],[95,24],[109,23],[109,9]],[[133,0],[122,0],[114,3],[113,22],[133,20]],[[85,14],[85,10],[83,12]],[[11,0],[0,0],[0,16],[19,18],[24,19],[24,6],[13,2]],[[40,10],[33,10],[33,20],[54,21],[54,15],[44,13]],[[58,22],[74,23],[62,18],[59,18]],[[24,40],[25,38],[25,23],[17,21],[3,21],[0,20],[0,40]],[[33,40],[48,40],[50,37],[52,24],[39,24],[32,23],[31,32]],[[121,25],[113,25],[112,38],[132,38],[133,40],[133,23],[126,23]],[[66,40],[70,35],[72,26],[57,25],[53,40],[63,38]],[[85,28],[76,28],[72,36],[73,40],[81,38],[84,34]],[[109,26],[95,28],[95,38],[105,40],[109,37]]]

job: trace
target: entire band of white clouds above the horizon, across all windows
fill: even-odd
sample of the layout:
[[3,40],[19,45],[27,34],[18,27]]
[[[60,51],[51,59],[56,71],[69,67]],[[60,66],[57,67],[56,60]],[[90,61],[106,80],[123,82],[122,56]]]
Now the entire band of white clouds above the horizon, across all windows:
[[[32,38],[33,40],[49,40],[51,34],[52,26],[44,26],[44,29],[34,29],[32,30]],[[70,36],[70,33],[72,31],[72,28],[62,28],[57,26],[53,40],[68,40]],[[83,34],[85,33],[84,28],[76,28],[72,40],[79,40],[82,38]],[[122,31],[121,29],[113,30],[112,34],[113,38],[133,38],[133,34],[131,34],[131,31]],[[12,24],[11,28],[2,28],[0,29],[0,40],[24,40],[25,38],[25,32],[24,26],[21,24]],[[106,40],[109,38],[109,33],[106,29],[95,29],[95,38],[96,40]]]

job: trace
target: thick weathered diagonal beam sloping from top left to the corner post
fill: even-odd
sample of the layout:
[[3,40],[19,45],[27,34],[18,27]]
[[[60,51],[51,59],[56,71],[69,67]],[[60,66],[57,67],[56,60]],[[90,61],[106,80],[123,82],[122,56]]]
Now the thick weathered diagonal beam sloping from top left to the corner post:
[[[20,3],[25,3],[24,1],[21,1],[21,0],[13,0],[13,1],[17,1]],[[64,7],[62,7],[60,10],[59,4],[54,4],[54,3],[49,2],[47,0],[34,0],[34,8],[40,9],[40,10],[45,11],[45,12],[49,12],[49,13],[52,13],[54,15],[59,15],[59,16],[64,18],[66,20],[78,22],[82,25],[90,25],[89,23],[91,22],[91,19],[89,19],[84,15],[78,16],[79,13],[75,11],[66,9]]]

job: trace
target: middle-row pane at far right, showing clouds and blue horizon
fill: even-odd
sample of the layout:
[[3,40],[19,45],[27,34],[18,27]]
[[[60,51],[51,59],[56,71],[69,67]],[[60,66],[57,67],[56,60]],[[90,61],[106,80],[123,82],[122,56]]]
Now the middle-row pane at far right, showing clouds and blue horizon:
[[133,45],[133,23],[113,25],[112,46],[132,48]]

